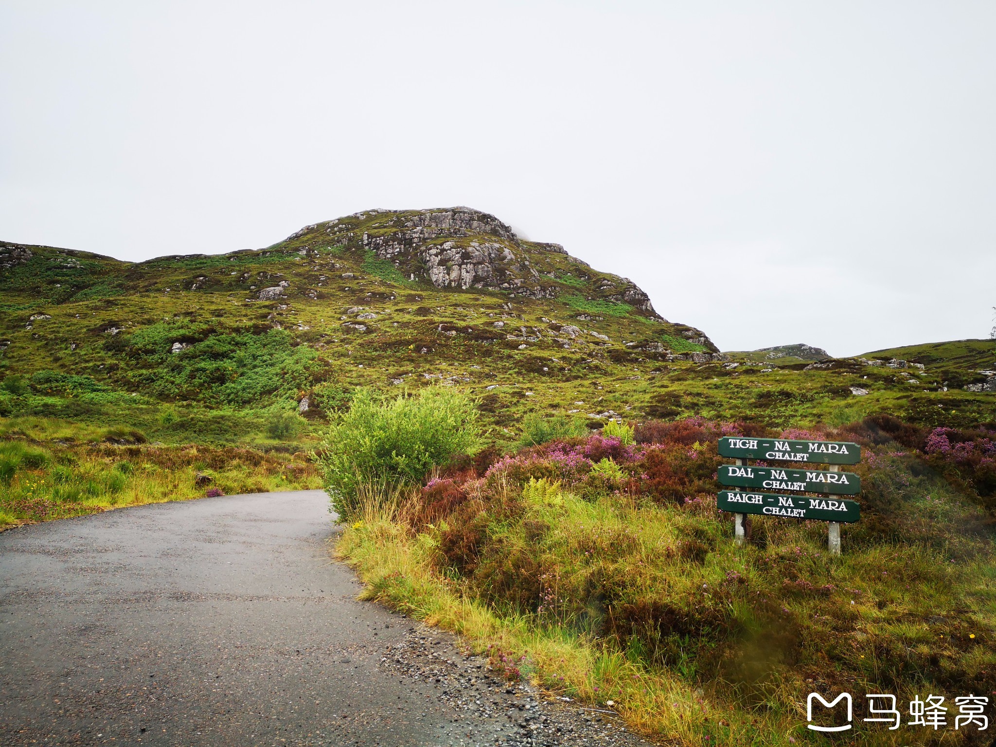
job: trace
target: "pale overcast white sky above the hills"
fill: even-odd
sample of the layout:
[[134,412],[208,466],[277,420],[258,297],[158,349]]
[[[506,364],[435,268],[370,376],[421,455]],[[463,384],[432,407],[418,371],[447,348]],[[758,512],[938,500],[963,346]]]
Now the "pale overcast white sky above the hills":
[[468,205],[721,350],[987,337],[996,3],[0,0],[0,238]]

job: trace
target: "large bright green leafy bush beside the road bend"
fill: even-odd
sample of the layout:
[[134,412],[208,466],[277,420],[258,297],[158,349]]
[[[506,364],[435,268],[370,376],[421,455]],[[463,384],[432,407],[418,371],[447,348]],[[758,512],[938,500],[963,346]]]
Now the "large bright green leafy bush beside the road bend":
[[357,389],[317,456],[333,507],[349,518],[362,508],[364,486],[415,485],[433,466],[470,452],[476,416],[471,399],[450,389],[395,399]]

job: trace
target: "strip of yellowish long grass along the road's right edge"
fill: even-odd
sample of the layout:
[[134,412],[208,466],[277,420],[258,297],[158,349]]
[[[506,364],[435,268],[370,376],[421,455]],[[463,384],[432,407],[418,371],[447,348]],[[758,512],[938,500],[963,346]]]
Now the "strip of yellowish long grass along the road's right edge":
[[[453,579],[438,574],[430,535],[412,537],[391,510],[374,509],[346,531],[337,557],[357,570],[367,588],[362,599],[462,635],[472,649],[490,656],[509,678],[524,677],[550,692],[613,707],[635,730],[666,735],[671,743],[702,743],[715,732],[710,721],[726,714],[709,707],[701,691],[666,671],[653,671],[594,638],[529,615],[502,614],[468,596]],[[789,744],[794,724],[762,715],[720,727],[726,744]],[[779,737],[772,738],[776,734]]]

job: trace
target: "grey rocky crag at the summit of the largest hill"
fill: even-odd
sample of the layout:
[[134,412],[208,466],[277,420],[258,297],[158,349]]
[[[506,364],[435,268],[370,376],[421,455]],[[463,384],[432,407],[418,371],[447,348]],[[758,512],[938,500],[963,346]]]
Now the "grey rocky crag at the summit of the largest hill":
[[[556,275],[537,266],[544,253],[567,255],[563,246],[521,240],[494,215],[469,207],[368,210],[307,226],[290,239],[315,232],[346,246],[359,243],[408,278],[426,278],[436,288],[483,288],[537,299],[555,298],[564,290]],[[571,259],[590,272],[584,262]],[[625,278],[604,278],[598,290],[600,300],[655,314],[649,297]]]

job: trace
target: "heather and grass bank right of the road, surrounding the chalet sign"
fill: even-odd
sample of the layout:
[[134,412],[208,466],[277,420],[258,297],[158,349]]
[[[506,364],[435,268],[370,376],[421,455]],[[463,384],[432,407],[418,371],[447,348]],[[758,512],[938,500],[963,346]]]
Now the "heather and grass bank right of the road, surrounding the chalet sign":
[[[340,551],[370,597],[492,646],[510,676],[612,701],[648,733],[823,743],[804,726],[810,691],[855,693],[860,723],[868,692],[996,690],[989,515],[978,491],[936,466],[980,450],[981,463],[987,436],[914,428],[915,448],[888,432],[909,440],[902,428],[693,417],[478,454],[399,509],[368,506]],[[715,471],[718,437],[735,433],[862,443],[863,518],[845,527],[842,557],[827,554],[822,522],[752,517],[748,546],[733,545]],[[972,446],[948,456],[940,436]],[[936,739],[871,727],[853,738]]]

